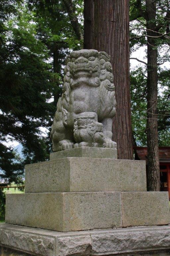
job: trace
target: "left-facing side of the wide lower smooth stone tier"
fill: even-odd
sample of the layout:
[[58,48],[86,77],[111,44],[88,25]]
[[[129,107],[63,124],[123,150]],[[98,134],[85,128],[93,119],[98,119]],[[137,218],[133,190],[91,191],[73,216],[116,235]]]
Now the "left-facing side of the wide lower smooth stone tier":
[[5,222],[51,230],[63,229],[63,194],[7,194]]

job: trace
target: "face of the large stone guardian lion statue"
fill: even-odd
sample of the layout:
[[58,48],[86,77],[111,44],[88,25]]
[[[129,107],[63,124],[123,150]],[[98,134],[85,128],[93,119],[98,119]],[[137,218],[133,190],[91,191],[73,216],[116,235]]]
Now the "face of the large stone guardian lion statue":
[[80,50],[71,52],[69,68],[72,78],[99,77],[100,61],[98,51]]

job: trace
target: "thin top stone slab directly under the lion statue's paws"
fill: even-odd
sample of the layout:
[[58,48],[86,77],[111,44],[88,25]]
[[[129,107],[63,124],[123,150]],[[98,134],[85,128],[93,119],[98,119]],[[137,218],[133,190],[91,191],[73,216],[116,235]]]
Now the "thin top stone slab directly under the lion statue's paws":
[[50,154],[50,160],[65,157],[89,157],[89,158],[110,158],[117,159],[117,149],[113,148],[95,148],[78,147],[68,150],[62,150]]

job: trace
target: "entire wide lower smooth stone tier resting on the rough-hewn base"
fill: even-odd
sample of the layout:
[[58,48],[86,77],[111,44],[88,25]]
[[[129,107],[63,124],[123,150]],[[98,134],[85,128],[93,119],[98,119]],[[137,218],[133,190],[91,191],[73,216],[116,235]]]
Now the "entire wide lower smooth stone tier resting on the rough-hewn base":
[[78,231],[170,223],[167,192],[7,194],[6,223]]

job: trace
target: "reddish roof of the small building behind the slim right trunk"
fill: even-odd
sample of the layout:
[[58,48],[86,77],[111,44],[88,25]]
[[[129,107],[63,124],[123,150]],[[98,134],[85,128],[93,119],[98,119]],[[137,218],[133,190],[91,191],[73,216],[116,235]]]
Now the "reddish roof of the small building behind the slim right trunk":
[[[133,147],[140,160],[147,161],[147,147]],[[159,162],[170,162],[170,147],[159,147]]]

